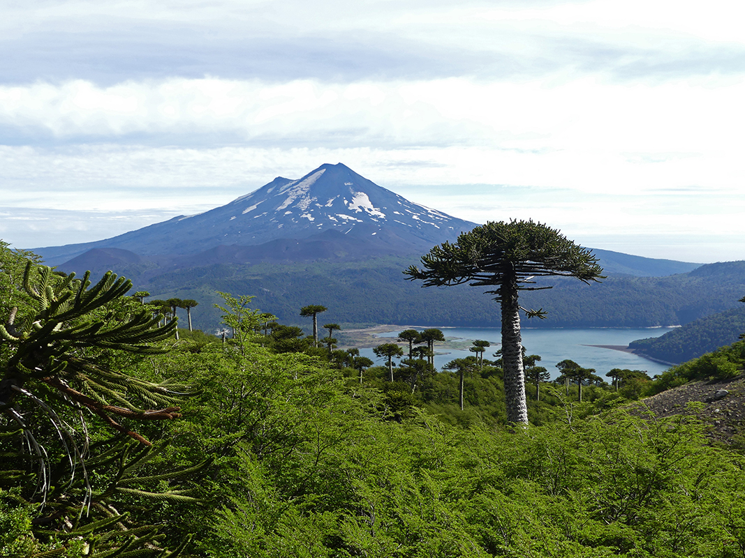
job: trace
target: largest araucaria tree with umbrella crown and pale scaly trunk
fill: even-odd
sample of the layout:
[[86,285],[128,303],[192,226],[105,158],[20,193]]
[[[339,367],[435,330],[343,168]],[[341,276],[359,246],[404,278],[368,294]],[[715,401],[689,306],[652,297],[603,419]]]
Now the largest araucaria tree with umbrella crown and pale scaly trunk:
[[[551,289],[530,286],[535,277],[574,277],[585,283],[603,278],[591,251],[532,220],[487,222],[460,234],[456,243],[434,246],[422,257],[422,269],[410,266],[404,273],[411,280],[423,280],[424,286],[495,287],[486,292],[501,307],[504,396],[510,423],[527,423],[519,292]],[[543,310],[526,312],[528,317],[545,315]]]

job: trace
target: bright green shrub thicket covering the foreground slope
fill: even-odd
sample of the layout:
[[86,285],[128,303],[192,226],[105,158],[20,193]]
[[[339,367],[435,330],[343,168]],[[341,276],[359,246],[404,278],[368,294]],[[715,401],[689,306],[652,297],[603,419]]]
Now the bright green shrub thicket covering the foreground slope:
[[[22,255],[0,246],[2,324],[13,307],[15,324],[38,315]],[[78,288],[44,274],[34,281],[47,277],[53,293]],[[147,403],[152,386],[165,386],[180,399],[174,420],[131,409],[118,419],[127,432],[112,429],[83,400],[45,388],[48,376],[19,369],[34,376],[23,389],[36,398],[0,406],[1,557],[744,556],[743,456],[710,446],[685,418],[621,409],[659,380],[619,373],[616,391],[593,379],[583,403],[576,383],[543,383],[539,401],[527,390],[530,426],[507,429],[498,361],[471,357],[461,410],[456,370],[403,359],[390,381],[387,368],[355,368],[353,352],[313,347],[291,327],[270,333],[250,296],[221,301],[236,329],[224,343],[188,330],[179,341],[153,335],[142,350],[93,343],[147,308],[133,297],[60,322],[94,337],[60,346],[55,362],[84,356],[119,374],[104,392],[92,389],[93,371],[58,367],[69,388],[98,394],[94,407],[124,408],[122,397]],[[162,332],[141,333],[151,330]],[[0,344],[3,382],[30,339],[16,337]],[[662,380],[739,373],[744,347]],[[29,434],[45,458],[24,444]]]

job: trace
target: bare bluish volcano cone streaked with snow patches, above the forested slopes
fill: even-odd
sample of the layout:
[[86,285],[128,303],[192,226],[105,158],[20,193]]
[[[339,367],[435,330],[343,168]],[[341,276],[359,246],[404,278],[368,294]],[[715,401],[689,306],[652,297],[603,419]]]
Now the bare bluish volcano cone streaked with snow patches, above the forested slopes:
[[[357,251],[366,251],[362,242],[376,254],[404,254],[454,240],[474,226],[409,202],[339,163],[323,164],[297,180],[279,176],[202,214],[174,217],[107,240],[39,248],[38,252],[54,263],[91,248],[122,248],[143,256],[188,255],[216,246],[257,246],[280,239],[318,237],[335,243],[354,239]],[[342,234],[344,237],[339,236]]]

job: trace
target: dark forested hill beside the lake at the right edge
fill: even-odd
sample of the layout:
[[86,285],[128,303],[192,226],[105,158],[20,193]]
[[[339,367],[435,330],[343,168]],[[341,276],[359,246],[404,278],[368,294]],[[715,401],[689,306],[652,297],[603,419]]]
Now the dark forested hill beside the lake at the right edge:
[[737,341],[745,332],[745,308],[699,318],[676,330],[650,339],[632,341],[629,347],[666,362],[685,362]]

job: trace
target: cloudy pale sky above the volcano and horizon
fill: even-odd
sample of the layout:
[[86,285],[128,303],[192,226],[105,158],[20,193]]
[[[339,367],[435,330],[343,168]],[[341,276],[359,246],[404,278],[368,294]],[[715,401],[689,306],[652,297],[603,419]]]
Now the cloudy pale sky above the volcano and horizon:
[[0,239],[115,236],[342,162],[473,222],[745,260],[741,0],[0,4]]

